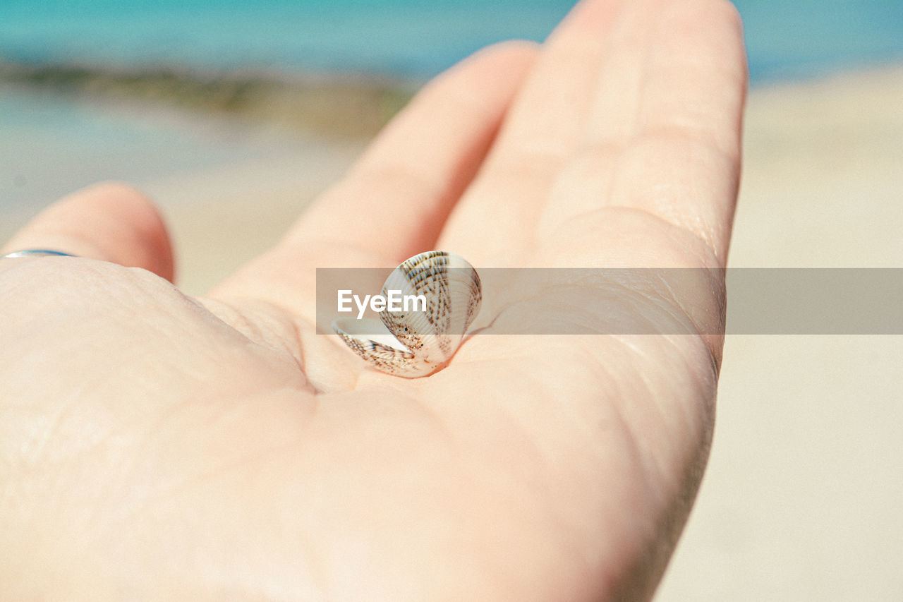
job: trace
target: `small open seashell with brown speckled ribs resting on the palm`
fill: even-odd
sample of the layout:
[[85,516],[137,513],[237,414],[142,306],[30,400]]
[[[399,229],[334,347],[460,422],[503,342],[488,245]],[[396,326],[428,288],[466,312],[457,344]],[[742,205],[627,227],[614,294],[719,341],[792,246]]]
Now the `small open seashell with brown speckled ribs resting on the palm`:
[[332,329],[377,370],[405,378],[432,374],[452,359],[482,298],[477,270],[461,256],[438,250],[403,261],[386,278],[382,295],[388,291],[424,296],[425,309],[423,303],[412,311],[386,307],[379,320],[340,318]]

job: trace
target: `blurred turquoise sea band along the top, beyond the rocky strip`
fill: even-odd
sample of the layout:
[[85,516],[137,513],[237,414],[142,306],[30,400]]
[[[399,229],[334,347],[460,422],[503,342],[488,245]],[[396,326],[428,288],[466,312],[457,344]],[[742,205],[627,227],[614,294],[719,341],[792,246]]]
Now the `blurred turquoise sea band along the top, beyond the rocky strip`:
[[[753,82],[903,58],[901,0],[736,0]],[[4,0],[0,58],[424,79],[571,0]]]

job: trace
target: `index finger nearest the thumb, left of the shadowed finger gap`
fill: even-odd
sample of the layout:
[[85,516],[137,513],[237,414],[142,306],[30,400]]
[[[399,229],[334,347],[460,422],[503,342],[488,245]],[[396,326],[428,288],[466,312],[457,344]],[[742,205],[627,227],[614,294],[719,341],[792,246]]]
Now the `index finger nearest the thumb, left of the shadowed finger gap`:
[[303,215],[286,252],[327,241],[395,265],[432,248],[534,55],[535,44],[507,42],[433,80]]

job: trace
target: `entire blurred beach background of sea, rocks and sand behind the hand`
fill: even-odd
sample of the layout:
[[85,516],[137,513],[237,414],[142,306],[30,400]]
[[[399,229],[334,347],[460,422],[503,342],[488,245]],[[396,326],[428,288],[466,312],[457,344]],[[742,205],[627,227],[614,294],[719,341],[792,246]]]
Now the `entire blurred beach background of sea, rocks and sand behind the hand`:
[[[88,183],[166,212],[200,293],[420,85],[563,0],[4,0],[0,238]],[[731,267],[903,267],[903,1],[737,0],[751,93]],[[659,600],[903,599],[903,341],[728,337]]]

